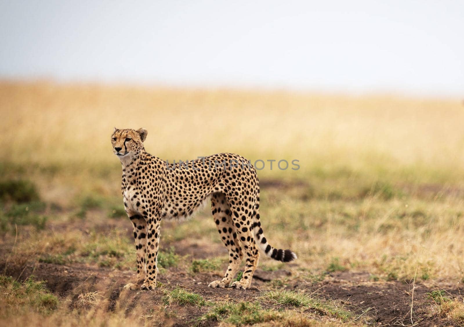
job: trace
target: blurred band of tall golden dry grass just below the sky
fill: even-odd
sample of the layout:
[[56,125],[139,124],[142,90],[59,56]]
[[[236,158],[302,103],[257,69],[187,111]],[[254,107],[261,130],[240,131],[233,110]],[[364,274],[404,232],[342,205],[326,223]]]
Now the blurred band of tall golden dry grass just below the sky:
[[114,164],[113,126],[143,126],[161,158],[298,159],[285,173],[296,178],[314,167],[464,167],[459,100],[2,82],[0,108],[0,153],[13,162]]

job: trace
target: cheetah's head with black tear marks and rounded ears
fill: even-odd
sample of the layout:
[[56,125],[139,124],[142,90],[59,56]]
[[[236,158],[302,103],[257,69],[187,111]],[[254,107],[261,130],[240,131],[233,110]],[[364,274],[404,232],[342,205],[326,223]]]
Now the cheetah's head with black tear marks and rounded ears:
[[147,130],[140,128],[133,129],[117,129],[115,127],[113,135],[111,135],[111,144],[113,152],[119,158],[133,157],[143,150],[143,141],[147,137]]

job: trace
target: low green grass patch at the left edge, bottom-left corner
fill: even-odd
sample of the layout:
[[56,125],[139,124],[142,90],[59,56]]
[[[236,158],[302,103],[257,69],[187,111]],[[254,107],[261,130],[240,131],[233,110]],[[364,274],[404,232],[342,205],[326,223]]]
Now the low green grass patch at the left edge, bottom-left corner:
[[58,307],[58,297],[44,287],[45,282],[37,282],[29,277],[24,283],[15,281],[13,277],[0,276],[0,302],[2,306],[33,309],[42,314],[50,313]]

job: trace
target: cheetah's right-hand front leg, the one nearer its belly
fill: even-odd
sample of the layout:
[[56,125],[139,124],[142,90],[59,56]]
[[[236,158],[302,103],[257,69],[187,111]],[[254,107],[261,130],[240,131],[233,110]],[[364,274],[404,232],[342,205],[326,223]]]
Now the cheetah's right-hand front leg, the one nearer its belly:
[[153,290],[156,288],[156,275],[158,269],[158,247],[160,245],[160,219],[146,217],[147,220],[147,275],[142,284],[142,289]]

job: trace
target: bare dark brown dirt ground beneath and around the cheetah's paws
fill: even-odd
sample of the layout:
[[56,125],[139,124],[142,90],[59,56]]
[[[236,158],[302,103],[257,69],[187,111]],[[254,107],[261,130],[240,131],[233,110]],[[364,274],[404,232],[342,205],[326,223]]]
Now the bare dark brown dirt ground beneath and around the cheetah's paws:
[[[127,224],[125,224],[127,223]],[[127,226],[126,226],[127,225]],[[128,221],[111,220],[110,226],[100,226],[101,229],[127,228],[128,236],[131,233]],[[125,226],[125,227],[124,227]],[[85,228],[85,226],[61,226],[62,228]],[[97,226],[98,227],[98,226]],[[54,226],[55,230],[60,225]],[[171,267],[159,275],[158,280],[163,283],[161,289],[155,291],[123,290],[122,287],[135,278],[133,270],[115,270],[102,268],[91,264],[48,264],[40,262],[26,262],[15,264],[6,262],[8,249],[12,245],[3,246],[0,269],[7,276],[18,280],[25,280],[34,275],[38,280],[45,280],[46,287],[60,298],[70,298],[70,308],[75,305],[79,294],[100,290],[108,300],[107,310],[114,310],[117,305],[125,308],[129,314],[136,306],[149,308],[161,304],[161,298],[166,290],[176,286],[200,294],[206,301],[256,301],[264,290],[271,289],[272,281],[287,278],[285,289],[301,290],[306,293],[317,292],[321,297],[339,300],[344,307],[355,313],[356,316],[369,317],[372,326],[410,326],[411,325],[411,292],[412,283],[400,281],[373,281],[368,272],[341,271],[326,274],[321,281],[315,283],[304,278],[293,278],[292,271],[298,269],[298,262],[289,264],[283,269],[275,271],[256,270],[251,289],[210,289],[208,283],[221,276],[213,272],[200,272],[192,274],[186,267]],[[176,253],[189,258],[211,258],[226,256],[226,249],[220,244],[205,244],[204,241],[183,239],[161,245],[168,249],[174,246]],[[26,260],[27,261],[27,260]],[[225,268],[225,266],[224,266]],[[412,320],[414,326],[452,326],[450,321],[443,317],[429,316],[427,308],[431,300],[427,293],[436,289],[444,289],[449,296],[461,296],[456,284],[446,281],[436,283],[415,283]],[[270,305],[267,305],[268,307]],[[266,304],[263,304],[266,307]],[[205,314],[207,308],[196,306],[172,305],[169,310],[175,310],[176,315],[171,319],[170,325],[184,326],[189,321]],[[290,308],[291,309],[291,308]],[[211,322],[209,322],[211,323]]]

